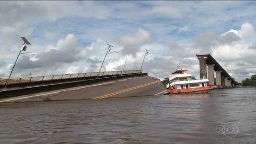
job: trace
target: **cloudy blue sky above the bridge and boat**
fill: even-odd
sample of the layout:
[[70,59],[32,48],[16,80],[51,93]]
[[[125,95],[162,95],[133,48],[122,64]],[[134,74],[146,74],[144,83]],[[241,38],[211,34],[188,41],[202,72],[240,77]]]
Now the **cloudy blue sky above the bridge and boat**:
[[256,74],[256,1],[0,1],[0,78],[139,70],[199,77],[211,54],[235,78]]

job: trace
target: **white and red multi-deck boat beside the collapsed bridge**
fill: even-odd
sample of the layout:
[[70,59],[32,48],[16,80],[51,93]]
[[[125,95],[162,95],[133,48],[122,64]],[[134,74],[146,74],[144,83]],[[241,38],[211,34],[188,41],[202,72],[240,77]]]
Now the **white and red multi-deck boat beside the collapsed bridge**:
[[212,85],[208,85],[208,78],[194,79],[190,73],[186,73],[187,69],[178,69],[173,72],[169,78],[170,83],[166,88],[170,90],[170,94],[186,94],[186,93],[209,93],[212,90]]

